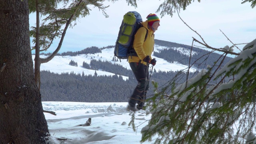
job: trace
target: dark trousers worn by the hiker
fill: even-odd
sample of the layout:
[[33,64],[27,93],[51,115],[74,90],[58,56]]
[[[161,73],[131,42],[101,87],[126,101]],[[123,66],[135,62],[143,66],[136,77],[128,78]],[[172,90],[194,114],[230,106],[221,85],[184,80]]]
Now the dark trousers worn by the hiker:
[[134,89],[132,96],[130,97],[129,105],[134,107],[137,103],[139,104],[139,107],[143,107],[144,100],[146,100],[146,92],[149,88],[148,66],[137,62],[130,62],[130,67],[132,69],[132,72],[134,73],[136,80],[138,81],[138,84]]

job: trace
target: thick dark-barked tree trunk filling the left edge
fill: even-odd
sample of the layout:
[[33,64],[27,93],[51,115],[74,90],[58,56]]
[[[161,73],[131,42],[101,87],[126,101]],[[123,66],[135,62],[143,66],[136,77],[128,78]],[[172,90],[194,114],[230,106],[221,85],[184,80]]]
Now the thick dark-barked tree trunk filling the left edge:
[[28,0],[0,0],[0,143],[41,144],[48,133],[33,74]]

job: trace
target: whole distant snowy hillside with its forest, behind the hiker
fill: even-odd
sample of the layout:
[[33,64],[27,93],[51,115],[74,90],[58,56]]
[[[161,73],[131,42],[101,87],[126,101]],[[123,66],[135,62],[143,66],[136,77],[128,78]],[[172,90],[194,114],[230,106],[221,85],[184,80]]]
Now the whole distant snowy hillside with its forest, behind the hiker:
[[[170,46],[173,47],[168,47],[165,43],[156,40],[152,57],[156,58],[157,63],[153,69],[150,68],[150,71],[152,70],[150,80],[157,82],[160,87],[168,84],[177,71],[187,70],[186,63],[190,54],[188,46],[170,42]],[[207,53],[208,51],[197,48],[192,51],[193,56]],[[45,58],[47,55],[40,57]],[[220,57],[219,54],[213,55],[208,57],[215,60]],[[180,57],[178,59],[175,56]],[[213,62],[214,59],[205,64],[212,65]],[[190,69],[189,77],[194,75],[196,69],[195,66]],[[50,62],[42,64],[41,70],[43,101],[127,102],[137,83],[128,62],[126,60],[120,62],[114,58],[113,46],[90,47],[79,52],[58,54]],[[180,78],[180,82],[184,80],[186,80],[185,73]],[[154,93],[153,90],[151,84],[148,96]]]

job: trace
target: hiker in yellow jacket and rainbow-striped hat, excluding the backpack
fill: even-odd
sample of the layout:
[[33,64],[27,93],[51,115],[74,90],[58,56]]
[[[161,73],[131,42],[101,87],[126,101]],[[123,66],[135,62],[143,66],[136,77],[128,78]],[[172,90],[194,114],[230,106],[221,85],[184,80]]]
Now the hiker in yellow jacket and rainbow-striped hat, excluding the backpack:
[[[146,93],[149,88],[148,82],[148,65],[156,64],[156,60],[152,59],[151,54],[154,50],[154,32],[160,26],[160,19],[156,14],[149,14],[145,22],[142,22],[141,28],[138,29],[134,36],[133,48],[138,56],[129,56],[128,62],[134,73],[138,84],[134,89],[132,96],[128,102],[127,110],[138,111],[144,106]],[[148,30],[148,35],[147,34]],[[146,40],[145,40],[146,36]],[[138,104],[136,107],[136,103]]]

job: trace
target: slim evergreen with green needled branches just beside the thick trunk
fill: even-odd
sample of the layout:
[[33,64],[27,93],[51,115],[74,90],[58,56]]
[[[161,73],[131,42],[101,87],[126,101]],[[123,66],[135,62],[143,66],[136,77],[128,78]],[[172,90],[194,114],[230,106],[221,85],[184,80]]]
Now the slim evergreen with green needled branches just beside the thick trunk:
[[[88,16],[90,14],[91,9],[89,7],[91,5],[101,10],[106,18],[108,17],[105,12],[108,6],[104,6],[104,4],[102,4],[103,1],[104,0],[28,0],[29,12],[36,12],[36,26],[31,27],[30,37],[34,38],[32,40],[35,44],[35,46],[32,46],[32,49],[35,50],[34,79],[39,89],[40,65],[49,62],[58,54],[68,28],[72,27],[72,25],[75,26],[79,18]],[[44,16],[44,19],[41,19],[40,15]],[[56,50],[47,58],[40,58],[40,51],[45,51],[50,48],[56,38],[60,38]]]

